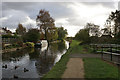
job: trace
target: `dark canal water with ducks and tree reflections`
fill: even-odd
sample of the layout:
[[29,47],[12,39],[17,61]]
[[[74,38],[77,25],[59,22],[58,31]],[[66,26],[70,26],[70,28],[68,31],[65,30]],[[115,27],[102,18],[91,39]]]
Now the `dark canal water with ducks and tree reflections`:
[[26,48],[2,54],[3,78],[41,78],[61,59],[69,43],[52,43],[46,48]]

